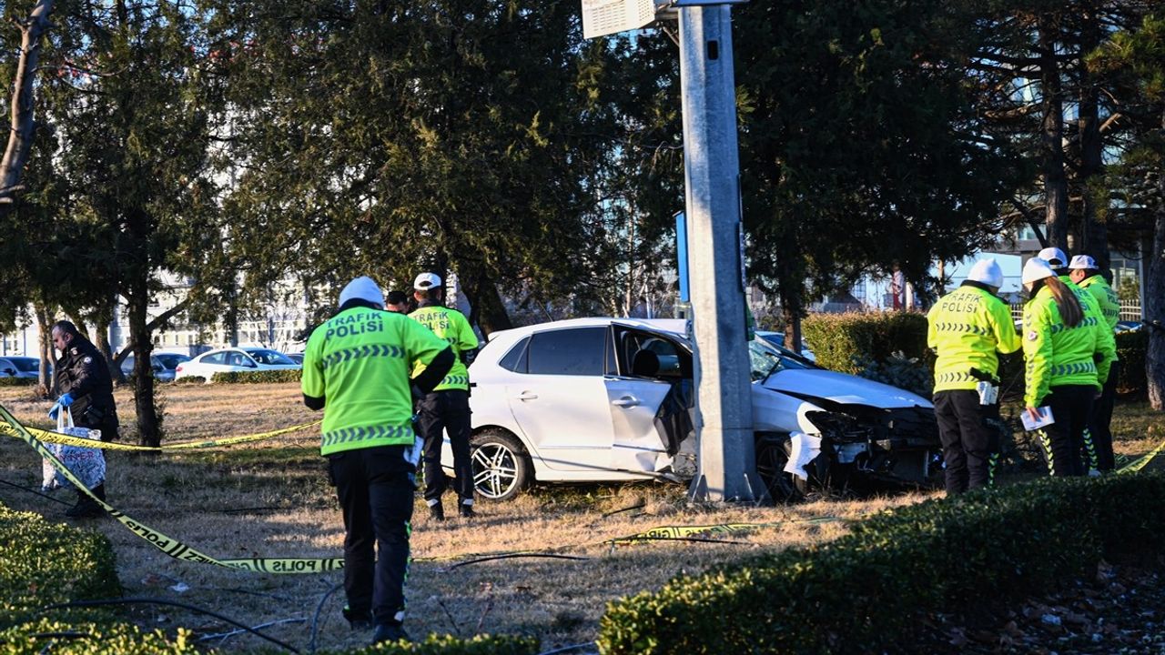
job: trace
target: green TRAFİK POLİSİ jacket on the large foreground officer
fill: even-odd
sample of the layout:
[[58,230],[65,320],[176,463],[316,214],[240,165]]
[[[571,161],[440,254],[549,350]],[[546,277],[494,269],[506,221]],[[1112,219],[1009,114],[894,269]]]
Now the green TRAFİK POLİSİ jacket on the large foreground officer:
[[324,399],[320,453],[412,445],[409,371],[446,348],[407,316],[350,308],[308,338],[301,387]]

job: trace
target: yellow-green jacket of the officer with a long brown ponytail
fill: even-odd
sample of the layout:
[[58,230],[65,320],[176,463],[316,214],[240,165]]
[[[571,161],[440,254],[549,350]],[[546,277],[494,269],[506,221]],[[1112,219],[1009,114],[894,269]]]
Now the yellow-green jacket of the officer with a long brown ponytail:
[[1075,284],[1067,287],[1083,309],[1083,318],[1073,328],[1065,325],[1047,287],[1024,305],[1024,403],[1029,407],[1038,407],[1057,386],[1092,385],[1100,390],[1116,354],[1113,331],[1092,295]]

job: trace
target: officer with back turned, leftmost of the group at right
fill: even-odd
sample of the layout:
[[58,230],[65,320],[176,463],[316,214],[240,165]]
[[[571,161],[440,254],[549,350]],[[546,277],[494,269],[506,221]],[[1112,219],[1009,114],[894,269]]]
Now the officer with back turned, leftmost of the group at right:
[[954,291],[926,315],[934,362],[934,416],[942,439],[947,494],[989,485],[998,457],[998,354],[1019,350],[1011,310],[996,294],[1003,272],[994,259],[975,262]]

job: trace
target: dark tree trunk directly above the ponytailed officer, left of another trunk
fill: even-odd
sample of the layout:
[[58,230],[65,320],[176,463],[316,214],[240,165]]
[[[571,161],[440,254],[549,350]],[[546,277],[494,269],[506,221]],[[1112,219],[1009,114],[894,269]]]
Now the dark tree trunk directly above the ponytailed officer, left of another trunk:
[[[1039,20],[1043,139],[1040,170],[1044,178],[1044,220],[1048,244],[1068,249],[1068,179],[1064,174],[1064,96],[1060,64],[1055,61],[1059,30],[1052,16]],[[1067,262],[1064,262],[1067,265]]]

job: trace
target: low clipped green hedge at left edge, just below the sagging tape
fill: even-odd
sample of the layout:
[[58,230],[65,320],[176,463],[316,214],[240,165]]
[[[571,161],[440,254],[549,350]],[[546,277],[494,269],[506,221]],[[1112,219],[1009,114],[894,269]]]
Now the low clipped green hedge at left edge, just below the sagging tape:
[[0,628],[54,603],[120,594],[105,535],[0,505]]

